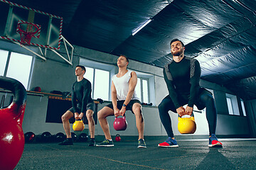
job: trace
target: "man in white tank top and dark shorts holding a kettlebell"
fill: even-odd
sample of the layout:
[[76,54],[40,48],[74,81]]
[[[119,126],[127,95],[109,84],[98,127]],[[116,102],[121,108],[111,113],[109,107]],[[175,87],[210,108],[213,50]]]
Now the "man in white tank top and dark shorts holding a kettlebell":
[[144,118],[142,115],[142,104],[137,97],[135,86],[137,85],[137,74],[127,70],[129,60],[126,56],[121,55],[117,59],[119,72],[112,77],[111,96],[112,103],[102,108],[98,113],[100,126],[105,134],[105,140],[97,147],[113,147],[114,143],[110,135],[110,127],[107,123],[107,117],[114,115],[124,116],[129,110],[134,113],[136,125],[139,132],[138,147],[146,147],[144,142]]

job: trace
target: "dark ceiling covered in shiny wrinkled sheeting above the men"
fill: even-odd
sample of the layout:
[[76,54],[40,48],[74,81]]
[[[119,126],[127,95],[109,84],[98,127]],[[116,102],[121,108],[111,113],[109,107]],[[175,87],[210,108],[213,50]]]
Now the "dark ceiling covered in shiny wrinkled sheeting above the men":
[[[255,0],[10,0],[63,17],[73,45],[164,67],[178,38],[201,79],[256,99]],[[152,21],[132,35],[147,20]]]

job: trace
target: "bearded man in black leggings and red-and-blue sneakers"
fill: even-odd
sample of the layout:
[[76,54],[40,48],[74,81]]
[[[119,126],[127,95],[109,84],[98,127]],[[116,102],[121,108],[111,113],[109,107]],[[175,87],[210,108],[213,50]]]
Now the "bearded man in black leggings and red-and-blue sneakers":
[[[217,111],[214,98],[210,91],[199,86],[201,77],[199,62],[194,58],[184,56],[185,47],[181,40],[171,40],[170,45],[173,60],[164,66],[164,80],[169,95],[159,104],[161,123],[164,125],[168,138],[158,146],[178,147],[168,111],[178,113],[179,116],[191,115],[193,106],[196,105],[199,110],[206,108],[210,136],[208,147],[222,147],[221,142],[218,142],[218,138],[215,136]],[[186,108],[183,108],[186,104],[188,104]]]

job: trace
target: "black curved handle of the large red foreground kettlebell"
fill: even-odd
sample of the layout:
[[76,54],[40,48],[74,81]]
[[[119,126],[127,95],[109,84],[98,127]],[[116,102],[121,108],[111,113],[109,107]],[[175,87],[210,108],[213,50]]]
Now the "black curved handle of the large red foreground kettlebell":
[[24,86],[16,79],[11,79],[8,77],[0,77],[0,88],[7,89],[14,94],[14,103],[18,106],[26,103],[26,89]]

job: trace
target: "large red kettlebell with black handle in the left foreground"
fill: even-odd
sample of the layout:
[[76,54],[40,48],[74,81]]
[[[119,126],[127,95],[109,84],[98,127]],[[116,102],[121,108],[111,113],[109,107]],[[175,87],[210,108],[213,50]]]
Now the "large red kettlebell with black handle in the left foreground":
[[24,149],[22,130],[26,89],[15,79],[0,77],[0,88],[12,91],[14,101],[0,109],[0,169],[14,169]]

